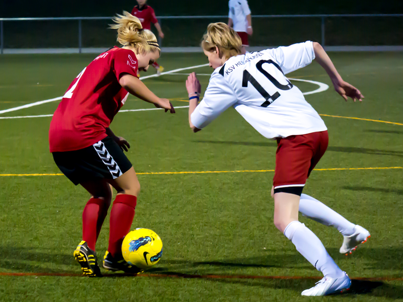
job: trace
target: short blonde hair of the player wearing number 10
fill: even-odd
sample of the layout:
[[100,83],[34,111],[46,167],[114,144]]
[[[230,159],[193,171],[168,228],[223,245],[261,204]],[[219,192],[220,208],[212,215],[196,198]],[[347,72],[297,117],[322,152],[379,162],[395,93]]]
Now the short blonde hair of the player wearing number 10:
[[227,24],[210,23],[201,41],[201,47],[206,51],[214,51],[216,46],[229,59],[241,54],[242,41],[236,31]]

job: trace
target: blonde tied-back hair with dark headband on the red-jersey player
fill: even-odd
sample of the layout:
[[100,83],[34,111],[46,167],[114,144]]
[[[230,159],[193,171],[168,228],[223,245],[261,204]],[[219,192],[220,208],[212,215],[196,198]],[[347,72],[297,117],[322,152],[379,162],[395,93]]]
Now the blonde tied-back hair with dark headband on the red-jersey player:
[[123,46],[132,46],[138,53],[154,52],[161,53],[157,38],[148,29],[143,29],[139,18],[128,12],[114,17],[116,24],[109,25],[109,28],[117,29],[117,41]]

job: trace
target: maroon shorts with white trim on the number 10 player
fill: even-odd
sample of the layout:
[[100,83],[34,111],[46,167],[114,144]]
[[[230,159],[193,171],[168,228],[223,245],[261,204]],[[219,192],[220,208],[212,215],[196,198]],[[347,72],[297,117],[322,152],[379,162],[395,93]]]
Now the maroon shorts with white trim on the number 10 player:
[[309,174],[326,151],[327,131],[277,138],[274,192],[301,195]]

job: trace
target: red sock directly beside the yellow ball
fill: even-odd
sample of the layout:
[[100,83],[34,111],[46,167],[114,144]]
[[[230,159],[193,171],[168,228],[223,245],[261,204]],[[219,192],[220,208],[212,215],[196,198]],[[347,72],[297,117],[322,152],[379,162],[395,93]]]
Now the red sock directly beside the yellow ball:
[[109,246],[108,252],[112,257],[121,255],[124,236],[130,232],[131,223],[135,217],[137,197],[119,194],[113,201],[110,212]]

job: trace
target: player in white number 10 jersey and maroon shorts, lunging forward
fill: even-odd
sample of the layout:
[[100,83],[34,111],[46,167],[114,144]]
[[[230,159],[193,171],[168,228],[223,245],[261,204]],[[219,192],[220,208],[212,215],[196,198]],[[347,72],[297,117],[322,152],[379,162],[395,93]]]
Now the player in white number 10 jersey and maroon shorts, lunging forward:
[[236,32],[224,23],[215,23],[209,25],[201,45],[215,70],[200,104],[201,88],[195,73],[186,81],[190,127],[197,132],[232,106],[263,136],[277,139],[272,188],[274,223],[324,275],[302,295],[326,295],[348,289],[350,278],[334,263],[316,235],[298,221],[298,211],[337,228],[344,236],[341,253],[351,252],[370,235],[320,201],[302,194],[310,172],[326,150],[328,136],[320,116],[285,74],[316,59],[346,101],[348,97],[362,101],[363,96],[343,81],[326,52],[315,42],[240,55],[241,40]]

